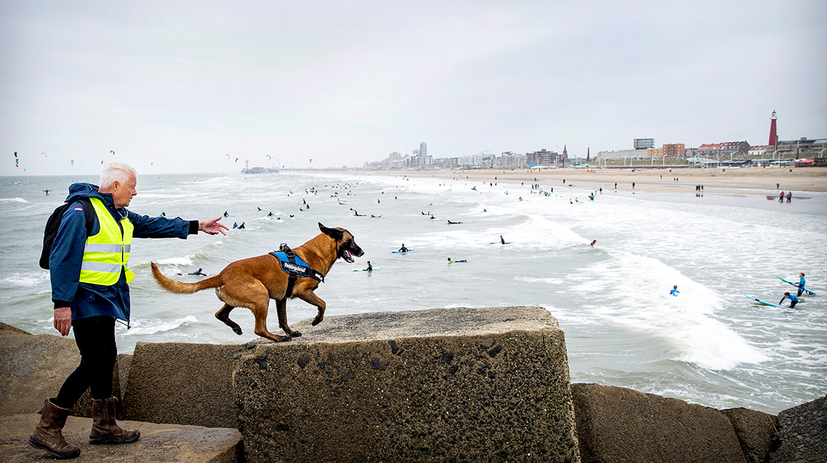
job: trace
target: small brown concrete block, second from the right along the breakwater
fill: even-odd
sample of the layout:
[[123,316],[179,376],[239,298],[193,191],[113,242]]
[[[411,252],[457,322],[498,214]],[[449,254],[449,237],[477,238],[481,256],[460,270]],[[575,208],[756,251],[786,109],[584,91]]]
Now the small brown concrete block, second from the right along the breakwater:
[[726,408],[721,413],[729,418],[741,443],[748,463],[764,463],[772,451],[778,418],[747,408]]

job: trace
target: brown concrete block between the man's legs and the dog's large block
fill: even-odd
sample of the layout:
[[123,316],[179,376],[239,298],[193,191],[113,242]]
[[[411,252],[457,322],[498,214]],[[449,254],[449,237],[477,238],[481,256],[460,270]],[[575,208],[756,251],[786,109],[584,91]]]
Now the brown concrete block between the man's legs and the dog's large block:
[[122,416],[143,422],[237,427],[232,371],[242,346],[138,342]]

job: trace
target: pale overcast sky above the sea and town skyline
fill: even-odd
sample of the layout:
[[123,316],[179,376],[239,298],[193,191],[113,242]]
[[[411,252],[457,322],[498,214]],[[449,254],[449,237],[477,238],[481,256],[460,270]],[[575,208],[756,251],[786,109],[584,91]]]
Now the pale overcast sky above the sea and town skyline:
[[773,110],[782,140],[823,138],[825,18],[824,0],[2,0],[0,174],[766,145]]

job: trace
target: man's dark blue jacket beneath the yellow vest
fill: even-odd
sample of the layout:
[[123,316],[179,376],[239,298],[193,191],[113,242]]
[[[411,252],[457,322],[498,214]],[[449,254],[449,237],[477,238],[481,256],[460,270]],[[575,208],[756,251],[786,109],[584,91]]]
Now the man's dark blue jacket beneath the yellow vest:
[[[77,183],[69,187],[66,203],[69,209],[60,221],[60,228],[49,257],[52,286],[52,301],[55,308],[72,308],[72,319],[105,315],[129,322],[129,285],[127,277],[121,270],[121,278],[112,286],[79,283],[80,265],[84,260],[86,244],[86,218],[84,204],[78,198],[99,198],[109,213],[121,224],[121,217],[129,217],[135,231],[135,238],[183,238],[198,233],[198,221],[185,221],[181,218],[141,216],[127,208],[115,208],[112,194],[99,193],[98,186]],[[75,210],[81,208],[81,210]],[[95,216],[92,234],[100,231],[98,217]],[[121,229],[123,231],[123,229]]]

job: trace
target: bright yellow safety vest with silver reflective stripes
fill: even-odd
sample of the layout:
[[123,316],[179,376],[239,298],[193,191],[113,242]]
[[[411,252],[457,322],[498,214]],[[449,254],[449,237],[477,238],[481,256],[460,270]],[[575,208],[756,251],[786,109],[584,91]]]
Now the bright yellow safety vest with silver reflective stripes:
[[135,274],[127,269],[129,250],[132,245],[132,231],[135,227],[128,217],[123,217],[121,227],[98,198],[89,198],[98,215],[100,231],[86,238],[84,262],[80,265],[80,282],[112,286],[121,277],[121,269],[127,275],[127,283]]

